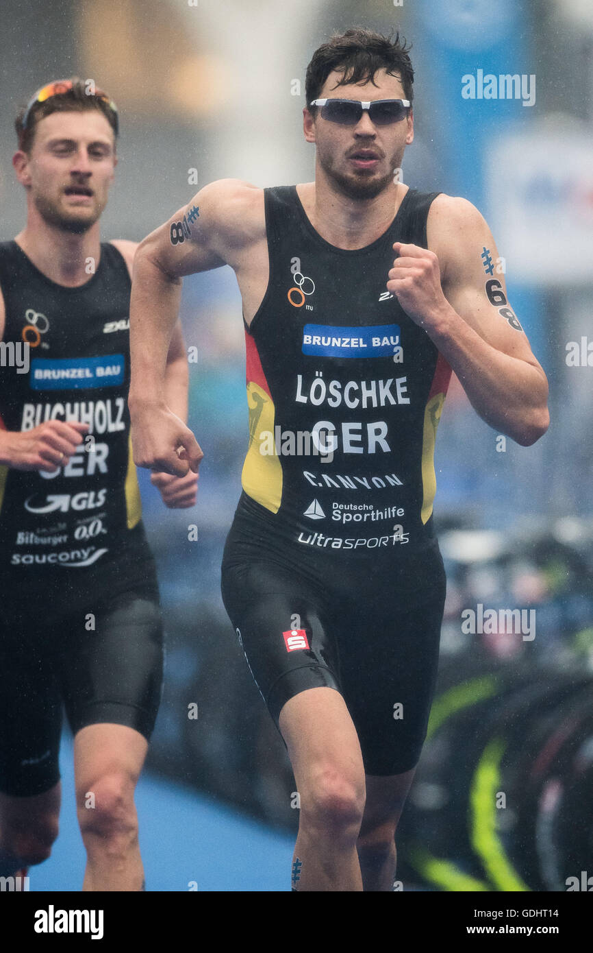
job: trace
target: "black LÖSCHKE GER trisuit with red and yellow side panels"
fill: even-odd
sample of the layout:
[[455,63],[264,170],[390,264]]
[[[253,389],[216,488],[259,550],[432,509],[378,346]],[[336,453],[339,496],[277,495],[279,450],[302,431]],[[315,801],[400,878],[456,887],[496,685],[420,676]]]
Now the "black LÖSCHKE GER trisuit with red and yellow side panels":
[[393,243],[426,247],[437,194],[409,190],[380,238],[344,251],[293,186],[265,190],[269,283],[246,330],[227,613],[272,717],[337,689],[371,775],[420,757],[445,603],[433,454],[451,372],[385,290]]

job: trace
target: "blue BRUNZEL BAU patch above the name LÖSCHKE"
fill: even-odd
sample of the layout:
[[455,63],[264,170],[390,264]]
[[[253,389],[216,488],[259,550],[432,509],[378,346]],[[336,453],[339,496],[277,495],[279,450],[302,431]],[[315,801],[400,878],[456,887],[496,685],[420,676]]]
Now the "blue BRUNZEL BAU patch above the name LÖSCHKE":
[[400,343],[399,324],[376,324],[366,328],[306,324],[303,329],[304,355],[389,357]]

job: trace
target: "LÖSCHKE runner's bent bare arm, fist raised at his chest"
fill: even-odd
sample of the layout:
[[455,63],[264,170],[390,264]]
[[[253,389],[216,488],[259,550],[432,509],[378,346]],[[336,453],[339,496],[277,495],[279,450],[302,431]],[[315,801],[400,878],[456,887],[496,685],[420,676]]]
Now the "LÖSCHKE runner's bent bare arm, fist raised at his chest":
[[528,446],[549,424],[547,379],[508,305],[504,274],[484,270],[484,248],[498,258],[494,238],[465,199],[442,195],[433,207],[433,252],[397,243],[387,288],[448,361],[474,410]]

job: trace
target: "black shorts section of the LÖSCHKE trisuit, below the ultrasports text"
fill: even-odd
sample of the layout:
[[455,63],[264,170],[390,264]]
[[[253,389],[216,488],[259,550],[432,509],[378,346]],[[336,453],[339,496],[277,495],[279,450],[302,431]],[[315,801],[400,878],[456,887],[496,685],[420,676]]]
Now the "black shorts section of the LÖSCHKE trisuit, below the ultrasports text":
[[420,758],[445,587],[436,539],[397,563],[392,552],[336,559],[275,544],[239,513],[222,566],[228,616],[276,724],[299,692],[336,689],[368,775],[400,774]]

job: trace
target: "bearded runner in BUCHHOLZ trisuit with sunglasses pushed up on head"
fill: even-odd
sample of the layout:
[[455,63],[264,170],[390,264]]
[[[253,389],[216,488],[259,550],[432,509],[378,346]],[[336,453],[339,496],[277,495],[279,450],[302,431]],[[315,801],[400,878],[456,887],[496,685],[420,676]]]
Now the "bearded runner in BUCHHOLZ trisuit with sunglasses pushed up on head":
[[[0,875],[44,861],[57,836],[64,702],[83,889],[141,890],[133,795],[163,644],[126,403],[136,246],[99,233],[118,115],[74,77],[35,93],[16,132],[27,224],[0,244]],[[179,326],[165,356],[183,418]],[[195,500],[195,474],[152,480],[168,506]]]

